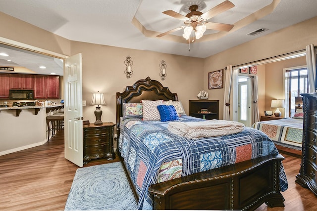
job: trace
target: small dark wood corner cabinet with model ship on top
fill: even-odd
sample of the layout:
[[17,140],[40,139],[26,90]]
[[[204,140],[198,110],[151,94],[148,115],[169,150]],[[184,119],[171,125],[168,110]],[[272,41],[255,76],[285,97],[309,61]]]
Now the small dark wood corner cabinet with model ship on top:
[[[207,110],[207,113],[202,113]],[[219,119],[219,100],[190,100],[189,116],[207,120]]]

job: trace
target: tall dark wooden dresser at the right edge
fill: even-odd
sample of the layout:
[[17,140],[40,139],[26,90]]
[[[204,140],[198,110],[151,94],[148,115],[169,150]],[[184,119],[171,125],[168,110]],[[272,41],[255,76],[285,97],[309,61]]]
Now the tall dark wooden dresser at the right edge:
[[317,196],[317,94],[304,96],[302,164],[296,182]]

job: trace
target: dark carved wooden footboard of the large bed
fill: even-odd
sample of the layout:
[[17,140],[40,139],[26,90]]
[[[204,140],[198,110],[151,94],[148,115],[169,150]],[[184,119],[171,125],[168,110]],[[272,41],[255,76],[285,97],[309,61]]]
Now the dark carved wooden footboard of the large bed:
[[255,210],[263,203],[284,207],[281,160],[281,155],[269,155],[151,185],[154,210]]

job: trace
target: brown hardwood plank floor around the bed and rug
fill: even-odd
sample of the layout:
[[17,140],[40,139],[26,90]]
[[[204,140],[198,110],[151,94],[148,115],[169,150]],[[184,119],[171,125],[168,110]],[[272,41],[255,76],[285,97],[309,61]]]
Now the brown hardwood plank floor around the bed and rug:
[[[289,188],[282,192],[284,208],[268,208],[265,204],[256,211],[317,211],[317,198],[308,189],[295,183],[299,158],[282,154]],[[119,161],[96,159],[84,167]],[[1,211],[60,211],[78,167],[64,159],[63,132],[57,133],[42,146],[0,156]]]

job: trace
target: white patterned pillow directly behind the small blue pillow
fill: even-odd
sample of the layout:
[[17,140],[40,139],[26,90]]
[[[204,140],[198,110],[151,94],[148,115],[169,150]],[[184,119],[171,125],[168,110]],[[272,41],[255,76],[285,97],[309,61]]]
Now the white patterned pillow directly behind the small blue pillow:
[[158,105],[163,104],[163,100],[141,100],[143,106],[143,120],[159,120]]

